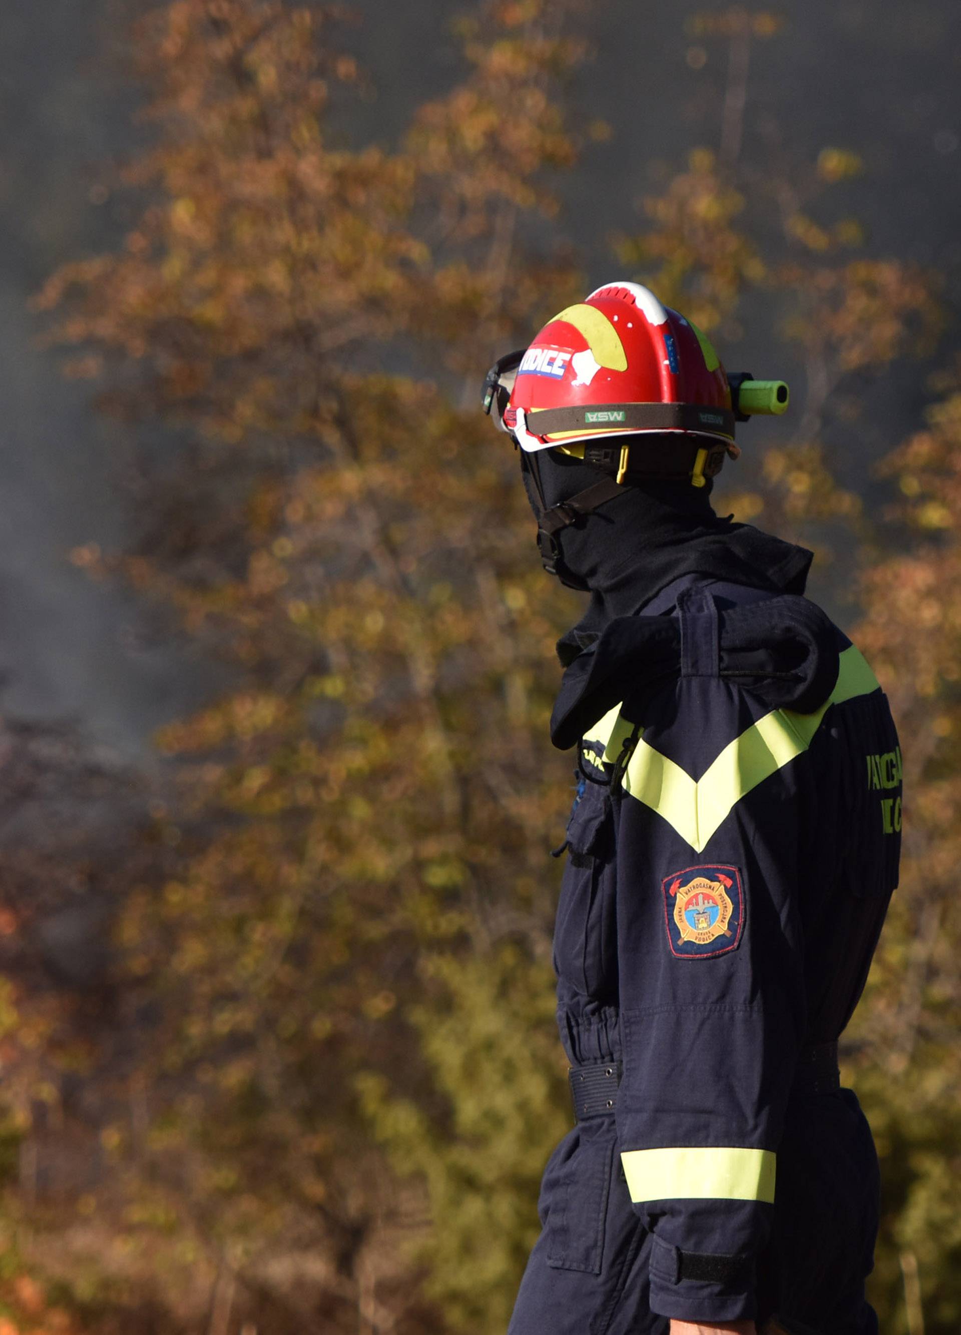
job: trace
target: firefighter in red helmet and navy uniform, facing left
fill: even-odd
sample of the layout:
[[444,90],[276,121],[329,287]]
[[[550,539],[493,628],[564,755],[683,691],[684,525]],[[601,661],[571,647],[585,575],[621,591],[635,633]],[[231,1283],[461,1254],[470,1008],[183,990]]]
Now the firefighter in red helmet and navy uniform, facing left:
[[837,1040],[897,884],[901,752],[812,554],[715,515],[727,376],[610,283],[490,372],[545,567],[577,749],[554,930],[575,1123],[546,1165],[509,1335],[876,1335],[868,1123]]

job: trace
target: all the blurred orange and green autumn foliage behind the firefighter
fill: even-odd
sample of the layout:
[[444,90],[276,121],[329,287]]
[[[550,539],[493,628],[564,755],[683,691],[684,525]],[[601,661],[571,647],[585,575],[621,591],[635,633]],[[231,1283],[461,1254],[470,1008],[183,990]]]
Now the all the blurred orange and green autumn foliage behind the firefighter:
[[[371,148],[331,129],[364,79],[332,11],[155,9],[137,222],[39,299],[105,411],[172,429],[137,455],[136,539],[75,561],[227,684],[157,740],[168,781],[109,853],[71,846],[109,872],[99,1008],[63,1019],[24,976],[0,1015],[36,1027],[4,1059],[24,1091],[4,1218],[11,1272],[60,1295],[43,1328],[495,1335],[537,1236],[570,1120],[547,856],[570,761],[546,725],[577,603],[475,398],[582,295],[550,183],[589,151],[565,81],[590,28],[566,0],[501,0],[458,36],[462,81]],[[961,392],[890,457],[900,509],[869,522],[834,481],[830,405],[933,350],[941,312],[932,275],[834,216],[858,170],[825,148],[787,180],[694,148],[617,254],[722,340],[766,322],[808,371],[793,439],[721,505],[813,542],[829,597],[858,593],[910,740],[904,882],[845,1057],[886,1160],[882,1324],[918,1335],[922,1302],[937,1335],[961,1319]],[[51,1119],[96,1165],[28,1191]]]

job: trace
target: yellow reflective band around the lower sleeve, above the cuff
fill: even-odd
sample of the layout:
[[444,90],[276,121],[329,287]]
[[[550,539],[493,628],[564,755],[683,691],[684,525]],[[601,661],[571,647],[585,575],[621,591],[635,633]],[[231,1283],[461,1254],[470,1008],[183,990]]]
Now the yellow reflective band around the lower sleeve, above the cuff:
[[642,1200],[763,1200],[774,1204],[771,1149],[629,1149],[621,1155],[627,1189]]

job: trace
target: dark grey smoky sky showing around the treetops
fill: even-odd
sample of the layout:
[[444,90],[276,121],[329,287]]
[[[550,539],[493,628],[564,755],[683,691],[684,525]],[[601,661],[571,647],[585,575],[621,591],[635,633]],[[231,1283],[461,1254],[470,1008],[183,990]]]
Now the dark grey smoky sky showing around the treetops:
[[[105,183],[109,166],[144,136],[131,123],[140,91],[125,47],[143,8],[8,0],[0,13],[0,665],[9,713],[77,718],[147,762],[152,730],[203,698],[206,669],[147,634],[116,585],[91,583],[67,559],[77,543],[109,547],[124,533],[123,450],[91,410],[89,387],[64,380],[59,356],[37,346],[27,306],[59,264],[109,248],[131,223],[133,206]],[[344,134],[395,144],[415,107],[456,76],[456,7],[359,0],[352,8],[362,19],[352,45],[376,96],[352,108]],[[658,166],[663,176],[691,146],[719,144],[727,56],[685,32],[686,19],[711,8],[593,7],[586,27],[595,49],[574,99],[585,121],[605,120],[613,134],[558,183],[593,284],[618,275],[610,236],[638,223],[638,199],[657,188]],[[801,162],[826,143],[860,154],[865,174],[838,190],[866,224],[869,251],[932,264],[956,292],[960,89],[957,5],[806,0],[785,35],[751,52],[742,152],[759,163]],[[755,374],[797,376],[797,367],[766,364],[751,328],[727,351],[729,364],[741,358]],[[865,462],[917,422],[929,398],[925,370],[898,366],[874,387],[880,411],[864,433]]]

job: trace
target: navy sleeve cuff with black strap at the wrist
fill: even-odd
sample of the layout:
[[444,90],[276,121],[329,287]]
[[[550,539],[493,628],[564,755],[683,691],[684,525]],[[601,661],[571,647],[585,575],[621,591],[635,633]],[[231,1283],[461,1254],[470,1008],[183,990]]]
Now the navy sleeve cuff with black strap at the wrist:
[[650,1307],[686,1322],[742,1322],[757,1315],[754,1255],[682,1252],[651,1239]]

